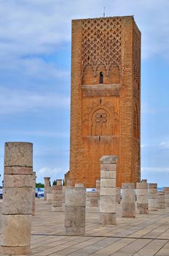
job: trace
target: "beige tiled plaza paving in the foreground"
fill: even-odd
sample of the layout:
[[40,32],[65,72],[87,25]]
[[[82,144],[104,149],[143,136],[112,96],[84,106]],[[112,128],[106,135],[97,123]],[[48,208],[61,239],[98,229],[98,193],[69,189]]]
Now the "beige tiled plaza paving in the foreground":
[[169,210],[125,219],[117,205],[117,225],[105,226],[99,225],[98,209],[87,207],[85,236],[66,236],[64,213],[37,199],[30,255],[169,256]]

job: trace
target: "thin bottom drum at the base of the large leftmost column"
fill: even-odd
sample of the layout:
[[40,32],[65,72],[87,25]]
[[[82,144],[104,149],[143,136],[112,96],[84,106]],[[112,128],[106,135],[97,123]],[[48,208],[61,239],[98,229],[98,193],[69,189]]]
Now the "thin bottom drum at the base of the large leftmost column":
[[30,246],[0,246],[1,255],[28,255]]

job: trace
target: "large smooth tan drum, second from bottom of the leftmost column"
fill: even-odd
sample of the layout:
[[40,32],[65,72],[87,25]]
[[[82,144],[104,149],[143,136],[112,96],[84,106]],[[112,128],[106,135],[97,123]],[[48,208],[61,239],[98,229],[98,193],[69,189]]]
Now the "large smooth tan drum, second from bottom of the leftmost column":
[[1,233],[1,246],[30,246],[31,214],[2,214]]

